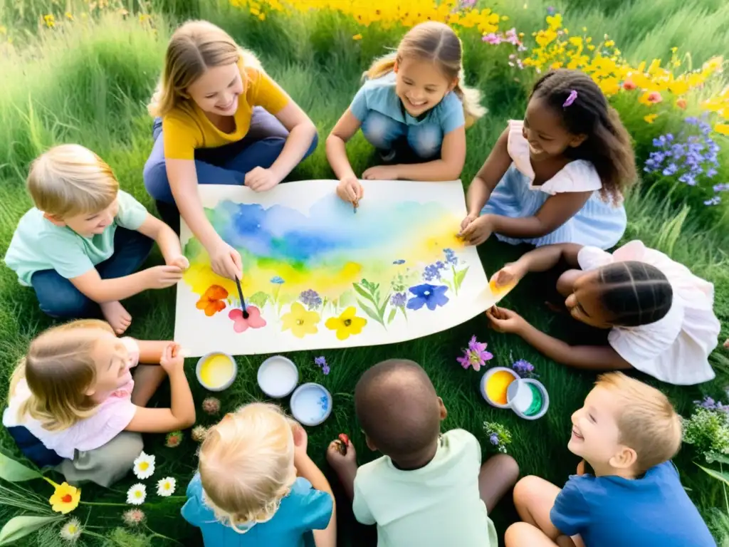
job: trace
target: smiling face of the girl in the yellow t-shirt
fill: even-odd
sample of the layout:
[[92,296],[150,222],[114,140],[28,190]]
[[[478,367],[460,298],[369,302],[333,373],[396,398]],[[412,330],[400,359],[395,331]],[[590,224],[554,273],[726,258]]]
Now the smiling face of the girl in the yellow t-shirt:
[[233,116],[238,110],[238,96],[243,93],[243,79],[238,64],[208,68],[190,84],[187,93],[203,112]]

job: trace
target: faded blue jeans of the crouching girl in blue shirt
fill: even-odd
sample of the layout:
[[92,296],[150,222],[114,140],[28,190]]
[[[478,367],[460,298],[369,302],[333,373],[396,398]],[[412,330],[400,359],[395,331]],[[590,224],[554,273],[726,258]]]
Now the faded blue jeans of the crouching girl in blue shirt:
[[440,157],[443,146],[440,125],[407,125],[375,110],[370,110],[362,121],[362,134],[373,147],[383,151],[403,151],[405,148],[405,152],[413,152],[416,161]]

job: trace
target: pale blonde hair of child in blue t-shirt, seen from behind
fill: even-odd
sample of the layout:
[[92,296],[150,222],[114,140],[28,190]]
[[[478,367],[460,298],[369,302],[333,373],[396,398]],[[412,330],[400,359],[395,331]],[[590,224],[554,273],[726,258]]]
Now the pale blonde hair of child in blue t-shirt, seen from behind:
[[265,522],[296,480],[292,422],[268,403],[251,403],[211,427],[200,446],[200,481],[220,521]]

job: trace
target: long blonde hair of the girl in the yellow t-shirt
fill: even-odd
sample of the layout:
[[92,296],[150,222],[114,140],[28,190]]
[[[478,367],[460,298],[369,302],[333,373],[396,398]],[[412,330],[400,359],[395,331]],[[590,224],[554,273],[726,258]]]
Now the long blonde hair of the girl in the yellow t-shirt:
[[[207,69],[241,60],[243,66],[263,70],[256,56],[239,47],[219,26],[208,21],[187,21],[174,31],[167,45],[162,76],[147,106],[149,114],[162,117],[187,101],[187,88]],[[246,74],[241,77],[246,85]]]

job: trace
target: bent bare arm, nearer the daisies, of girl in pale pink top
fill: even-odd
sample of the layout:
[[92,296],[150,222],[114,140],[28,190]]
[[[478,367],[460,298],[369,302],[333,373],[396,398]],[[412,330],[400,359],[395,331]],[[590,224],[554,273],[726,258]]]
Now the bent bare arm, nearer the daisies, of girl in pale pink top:
[[195,403],[184,375],[184,357],[177,344],[168,344],[160,365],[170,377],[170,408],[137,407],[132,421],[125,427],[126,431],[166,433],[195,423]]

